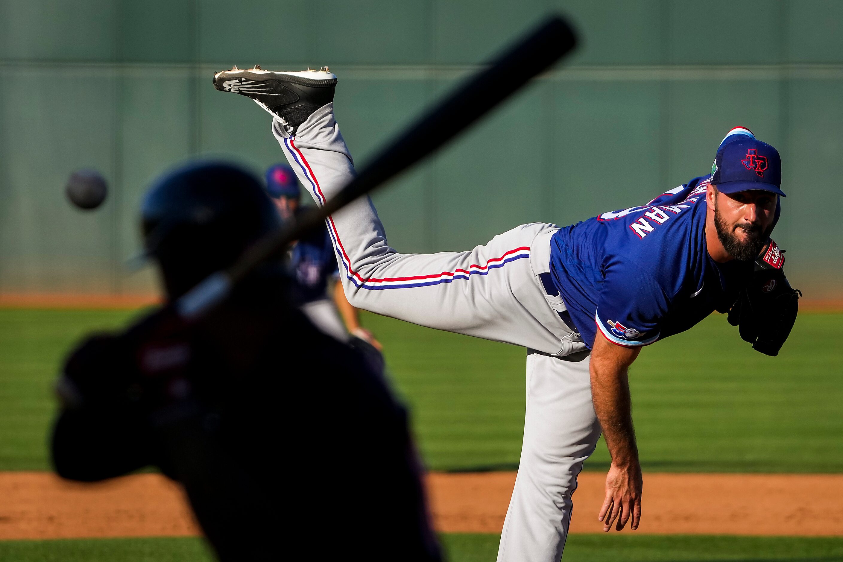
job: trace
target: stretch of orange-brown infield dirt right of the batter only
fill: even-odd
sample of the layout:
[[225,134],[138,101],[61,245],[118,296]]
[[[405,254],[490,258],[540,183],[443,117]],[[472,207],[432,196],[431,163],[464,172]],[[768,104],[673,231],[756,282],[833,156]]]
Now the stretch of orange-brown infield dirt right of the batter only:
[[[572,533],[601,533],[605,474],[582,473]],[[500,533],[515,473],[431,474],[438,529]],[[843,474],[645,474],[636,533],[843,536]]]

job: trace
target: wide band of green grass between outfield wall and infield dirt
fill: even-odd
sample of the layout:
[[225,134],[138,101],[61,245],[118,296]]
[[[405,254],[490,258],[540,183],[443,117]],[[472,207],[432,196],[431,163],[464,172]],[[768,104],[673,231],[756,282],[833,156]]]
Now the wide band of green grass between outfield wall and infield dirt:
[[[0,470],[48,469],[51,385],[72,342],[133,313],[0,310]],[[373,314],[428,467],[514,468],[524,348]],[[802,314],[778,357],[715,314],[650,345],[631,369],[642,464],[651,471],[843,472],[843,314]],[[587,468],[608,464],[598,446]]]

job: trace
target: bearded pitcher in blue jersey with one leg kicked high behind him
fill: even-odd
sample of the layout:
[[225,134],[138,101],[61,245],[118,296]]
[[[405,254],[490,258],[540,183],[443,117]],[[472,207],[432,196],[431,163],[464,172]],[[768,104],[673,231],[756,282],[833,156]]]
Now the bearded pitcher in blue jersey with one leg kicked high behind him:
[[[214,86],[273,116],[272,132],[317,204],[352,179],[334,116],[336,76],[326,67],[235,67],[215,74]],[[778,353],[797,314],[770,238],[780,185],[776,149],[736,127],[711,174],[645,205],[568,227],[524,224],[464,252],[400,254],[368,197],[328,218],[354,306],[528,348],[524,444],[498,560],[560,559],[577,474],[601,430],[612,463],[599,520],[604,531],[638,526],[642,474],[627,369],[644,345],[717,310],[756,350]]]

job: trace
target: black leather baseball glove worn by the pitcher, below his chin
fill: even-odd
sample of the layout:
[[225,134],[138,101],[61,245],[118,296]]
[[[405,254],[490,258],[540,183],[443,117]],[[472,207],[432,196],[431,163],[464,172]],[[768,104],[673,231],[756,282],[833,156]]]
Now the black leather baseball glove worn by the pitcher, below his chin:
[[755,260],[752,277],[729,310],[728,321],[740,329],[740,337],[755,351],[777,356],[790,335],[802,292],[787,282],[785,258],[772,240],[763,256]]

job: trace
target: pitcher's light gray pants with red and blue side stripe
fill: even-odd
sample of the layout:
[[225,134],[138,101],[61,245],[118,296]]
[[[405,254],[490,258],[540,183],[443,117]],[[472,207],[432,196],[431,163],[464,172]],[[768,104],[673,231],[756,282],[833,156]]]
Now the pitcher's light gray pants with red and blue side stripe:
[[[318,205],[354,176],[333,104],[295,135],[277,120],[272,132]],[[524,444],[497,559],[558,562],[577,474],[600,435],[588,349],[559,317],[561,297],[548,295],[539,277],[550,270],[550,237],[558,227],[525,224],[465,252],[399,254],[368,197],[327,223],[355,307],[528,348]]]

